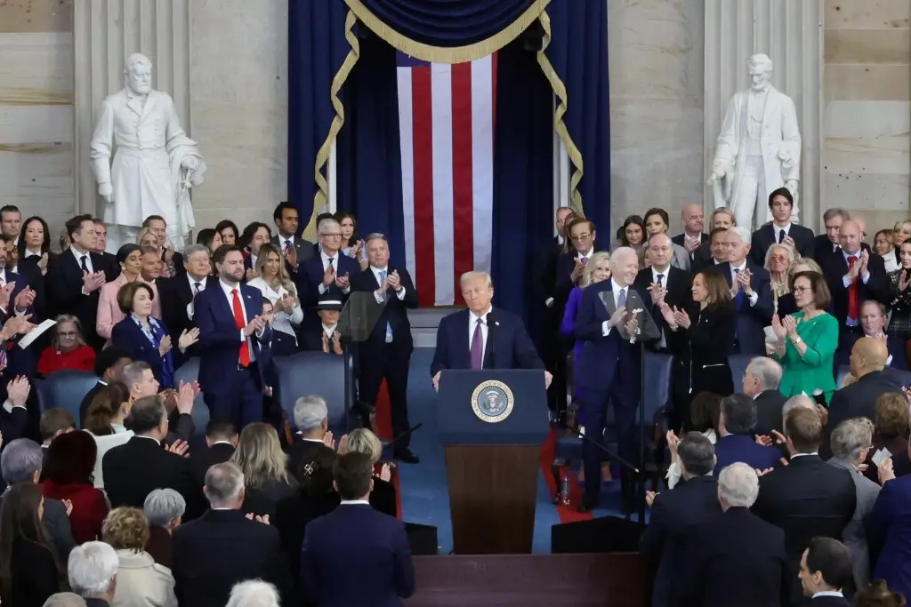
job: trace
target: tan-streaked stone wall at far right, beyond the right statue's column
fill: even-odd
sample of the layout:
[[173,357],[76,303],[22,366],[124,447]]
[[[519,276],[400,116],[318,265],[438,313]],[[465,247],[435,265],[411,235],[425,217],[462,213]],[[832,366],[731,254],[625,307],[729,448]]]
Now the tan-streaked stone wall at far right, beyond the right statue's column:
[[908,0],[824,0],[823,132],[823,206],[864,214],[870,239],[908,218]]

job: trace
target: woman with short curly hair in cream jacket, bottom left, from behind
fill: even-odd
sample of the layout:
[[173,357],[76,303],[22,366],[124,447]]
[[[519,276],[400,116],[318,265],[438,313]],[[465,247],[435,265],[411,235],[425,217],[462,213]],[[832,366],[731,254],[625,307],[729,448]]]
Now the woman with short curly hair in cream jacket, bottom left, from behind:
[[146,551],[148,535],[148,519],[138,508],[108,512],[101,536],[120,565],[111,607],[177,607],[174,576]]

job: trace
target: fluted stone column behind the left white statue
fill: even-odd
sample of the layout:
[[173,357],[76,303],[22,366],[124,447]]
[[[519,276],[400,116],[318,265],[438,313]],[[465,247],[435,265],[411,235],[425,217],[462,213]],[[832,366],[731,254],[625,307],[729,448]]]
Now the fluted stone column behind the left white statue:
[[153,63],[152,86],[174,98],[180,125],[190,132],[189,0],[79,0],[75,4],[76,208],[102,210],[89,165],[88,144],[98,107],[124,86],[123,68],[132,53]]

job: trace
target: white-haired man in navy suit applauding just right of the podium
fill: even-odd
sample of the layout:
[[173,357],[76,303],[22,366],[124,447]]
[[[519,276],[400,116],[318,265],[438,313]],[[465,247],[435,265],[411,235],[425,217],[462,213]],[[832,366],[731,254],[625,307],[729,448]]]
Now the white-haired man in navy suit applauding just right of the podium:
[[[585,496],[579,511],[594,508],[601,490],[602,451],[592,441],[604,440],[608,405],[614,407],[619,437],[619,455],[634,461],[636,453],[630,436],[640,397],[640,354],[638,341],[654,340],[660,331],[645,310],[651,309],[648,292],[632,288],[639,274],[639,256],[629,247],[620,247],[610,258],[610,279],[589,286],[582,292],[576,318],[576,339],[585,342],[578,356],[576,384],[582,402],[586,440],[582,445],[585,461]],[[633,479],[622,474],[622,508],[634,509]]]

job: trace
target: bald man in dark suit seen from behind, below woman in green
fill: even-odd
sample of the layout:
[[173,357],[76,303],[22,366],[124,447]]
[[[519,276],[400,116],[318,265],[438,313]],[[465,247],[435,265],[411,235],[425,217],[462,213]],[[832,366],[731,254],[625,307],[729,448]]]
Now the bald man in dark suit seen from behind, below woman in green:
[[855,342],[851,350],[851,374],[857,381],[832,395],[827,424],[829,428],[851,418],[875,420],[876,399],[886,392],[902,389],[901,375],[886,367],[885,361],[888,358],[889,350],[882,339],[861,338]]

